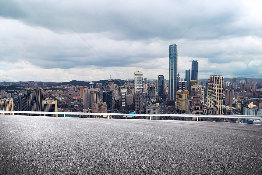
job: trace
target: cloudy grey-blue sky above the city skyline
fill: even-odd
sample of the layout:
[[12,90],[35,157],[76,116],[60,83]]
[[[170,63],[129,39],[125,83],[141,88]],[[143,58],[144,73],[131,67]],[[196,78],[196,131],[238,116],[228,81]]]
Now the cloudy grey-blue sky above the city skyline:
[[261,6],[261,0],[2,0],[0,81],[125,80],[135,71],[168,79],[173,43],[182,78],[192,60],[198,79],[262,78]]

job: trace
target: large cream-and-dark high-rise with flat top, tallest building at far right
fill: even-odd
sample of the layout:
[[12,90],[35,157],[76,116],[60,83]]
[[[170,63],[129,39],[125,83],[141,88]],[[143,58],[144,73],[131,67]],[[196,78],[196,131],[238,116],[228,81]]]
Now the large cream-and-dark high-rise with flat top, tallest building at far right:
[[222,75],[210,75],[207,89],[207,108],[204,112],[212,115],[223,114],[223,85],[224,77]]

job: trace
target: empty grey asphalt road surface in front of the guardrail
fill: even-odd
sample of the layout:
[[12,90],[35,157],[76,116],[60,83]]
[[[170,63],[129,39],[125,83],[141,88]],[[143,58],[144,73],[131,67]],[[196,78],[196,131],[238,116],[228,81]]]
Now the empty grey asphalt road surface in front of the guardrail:
[[0,115],[0,174],[262,174],[262,126]]

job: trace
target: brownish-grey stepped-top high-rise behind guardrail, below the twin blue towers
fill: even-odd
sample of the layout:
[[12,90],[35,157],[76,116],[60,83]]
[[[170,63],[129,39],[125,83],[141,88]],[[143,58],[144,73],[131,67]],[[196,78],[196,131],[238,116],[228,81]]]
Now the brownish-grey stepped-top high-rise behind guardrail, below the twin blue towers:
[[[191,96],[186,100],[186,114],[203,115],[203,103],[201,103],[200,97]],[[197,121],[197,117],[186,117],[186,120]],[[198,121],[203,121],[203,117],[198,117]]]

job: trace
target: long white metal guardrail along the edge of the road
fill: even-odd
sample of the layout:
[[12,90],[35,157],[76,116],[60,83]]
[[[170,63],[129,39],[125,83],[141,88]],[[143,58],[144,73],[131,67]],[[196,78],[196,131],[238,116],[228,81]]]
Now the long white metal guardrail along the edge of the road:
[[41,112],[41,111],[0,111],[2,113],[11,113],[14,114],[63,114],[65,115],[107,115],[108,118],[110,115],[113,116],[160,116],[160,117],[197,117],[197,121],[199,117],[206,117],[206,118],[248,118],[248,119],[262,119],[262,116],[256,115],[187,115],[187,114],[119,114],[119,113],[89,113],[89,112]]

